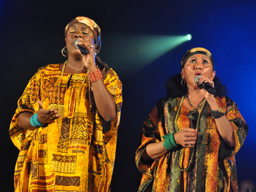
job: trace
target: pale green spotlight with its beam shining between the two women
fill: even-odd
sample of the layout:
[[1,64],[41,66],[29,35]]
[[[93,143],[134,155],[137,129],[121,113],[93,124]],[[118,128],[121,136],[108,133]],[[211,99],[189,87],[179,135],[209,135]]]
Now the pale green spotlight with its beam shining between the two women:
[[105,36],[104,41],[102,40],[99,56],[103,61],[111,63],[115,70],[128,74],[129,71],[140,70],[140,68],[150,64],[178,45],[191,40],[191,38],[190,34],[179,36],[108,35],[108,37]]

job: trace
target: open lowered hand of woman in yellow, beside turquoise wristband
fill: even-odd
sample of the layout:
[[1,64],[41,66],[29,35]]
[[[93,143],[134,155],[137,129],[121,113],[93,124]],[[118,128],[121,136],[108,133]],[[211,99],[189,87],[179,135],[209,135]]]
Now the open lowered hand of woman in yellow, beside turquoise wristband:
[[58,114],[57,110],[48,109],[45,110],[43,108],[43,104],[41,101],[37,101],[38,107],[38,121],[45,124],[45,123],[52,123],[55,119],[59,118],[60,115]]

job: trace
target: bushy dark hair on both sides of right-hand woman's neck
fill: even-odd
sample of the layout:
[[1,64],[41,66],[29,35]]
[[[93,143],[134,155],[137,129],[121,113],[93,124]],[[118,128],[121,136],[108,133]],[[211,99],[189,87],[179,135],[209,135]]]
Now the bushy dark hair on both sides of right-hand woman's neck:
[[[214,88],[216,90],[214,96],[227,96],[228,89],[224,84],[221,83],[220,79],[217,76],[215,76],[213,81]],[[187,92],[186,83],[184,86],[181,85],[180,74],[176,74],[174,76],[169,77],[164,83],[164,88],[166,89],[167,96],[171,97],[182,97],[183,95],[186,95]]]

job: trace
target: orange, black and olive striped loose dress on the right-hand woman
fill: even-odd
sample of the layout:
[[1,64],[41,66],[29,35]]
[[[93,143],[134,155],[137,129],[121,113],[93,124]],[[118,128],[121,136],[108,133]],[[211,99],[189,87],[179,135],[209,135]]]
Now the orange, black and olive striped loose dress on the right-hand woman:
[[[238,192],[235,154],[244,143],[248,127],[236,103],[228,97],[216,97],[216,101],[233,126],[234,148],[229,148],[219,135],[209,104],[206,103],[198,125],[195,158],[192,158],[187,171],[182,172],[180,168],[187,168],[192,149],[182,149],[181,145],[152,162],[141,159],[149,143],[163,141],[162,136],[175,132],[174,119],[180,99],[160,99],[143,123],[141,145],[136,152],[137,167],[143,173],[139,192]],[[181,105],[177,116],[179,130],[195,127],[194,120],[187,116],[189,112]],[[179,152],[181,149],[183,153]]]

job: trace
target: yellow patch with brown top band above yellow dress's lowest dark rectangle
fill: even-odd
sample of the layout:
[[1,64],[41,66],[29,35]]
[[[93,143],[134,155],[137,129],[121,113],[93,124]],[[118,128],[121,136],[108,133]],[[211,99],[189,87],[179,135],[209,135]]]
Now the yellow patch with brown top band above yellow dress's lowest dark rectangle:
[[52,154],[52,172],[75,173],[76,156]]

